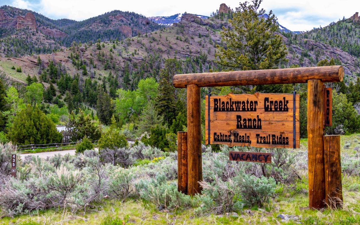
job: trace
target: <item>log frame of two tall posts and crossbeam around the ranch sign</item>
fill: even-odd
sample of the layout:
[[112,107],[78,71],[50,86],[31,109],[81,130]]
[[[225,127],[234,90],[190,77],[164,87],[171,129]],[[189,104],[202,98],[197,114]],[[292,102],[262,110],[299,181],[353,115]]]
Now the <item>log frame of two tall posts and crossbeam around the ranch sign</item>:
[[[201,191],[198,185],[198,182],[202,180],[200,87],[308,83],[307,142],[309,171],[309,207],[316,209],[324,208],[325,165],[323,137],[325,127],[325,107],[323,83],[341,82],[343,80],[343,77],[344,70],[342,66],[320,66],[307,68],[175,75],[172,79],[174,87],[187,89],[188,194],[194,195],[195,193]],[[252,119],[255,119],[255,117]],[[330,148],[332,148],[331,146],[333,145],[330,144]],[[337,158],[337,162],[339,162],[339,158]]]

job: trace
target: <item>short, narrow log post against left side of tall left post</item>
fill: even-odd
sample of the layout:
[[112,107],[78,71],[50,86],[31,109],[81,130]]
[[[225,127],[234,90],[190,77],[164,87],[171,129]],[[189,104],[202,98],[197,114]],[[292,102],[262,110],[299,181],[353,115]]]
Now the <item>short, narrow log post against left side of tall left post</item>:
[[177,132],[177,190],[188,193],[188,133]]

